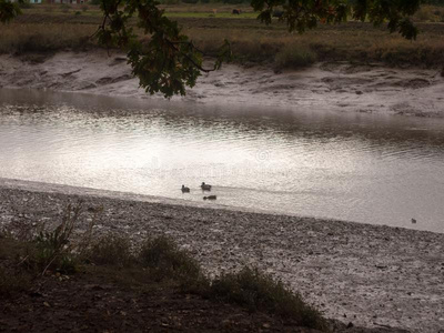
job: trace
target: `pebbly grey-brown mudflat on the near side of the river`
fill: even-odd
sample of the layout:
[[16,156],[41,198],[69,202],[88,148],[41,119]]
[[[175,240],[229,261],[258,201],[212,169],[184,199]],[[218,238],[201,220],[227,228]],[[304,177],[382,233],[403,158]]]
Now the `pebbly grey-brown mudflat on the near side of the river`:
[[[79,198],[85,208],[104,208],[98,231],[127,233],[134,242],[167,233],[209,274],[252,264],[300,291],[327,317],[444,332],[444,234],[6,179],[0,224],[53,224]],[[88,219],[84,213],[83,226]]]

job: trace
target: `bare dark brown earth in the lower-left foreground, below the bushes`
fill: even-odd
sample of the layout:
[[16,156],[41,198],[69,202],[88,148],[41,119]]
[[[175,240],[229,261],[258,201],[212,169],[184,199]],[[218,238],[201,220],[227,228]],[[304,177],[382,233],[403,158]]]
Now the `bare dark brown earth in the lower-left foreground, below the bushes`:
[[[0,271],[17,261],[0,239]],[[13,252],[13,251],[12,251]],[[291,319],[251,313],[236,305],[186,294],[173,283],[131,281],[117,268],[89,266],[80,273],[48,272],[20,292],[1,294],[0,332],[300,332]],[[347,327],[331,322],[333,332],[405,332]]]

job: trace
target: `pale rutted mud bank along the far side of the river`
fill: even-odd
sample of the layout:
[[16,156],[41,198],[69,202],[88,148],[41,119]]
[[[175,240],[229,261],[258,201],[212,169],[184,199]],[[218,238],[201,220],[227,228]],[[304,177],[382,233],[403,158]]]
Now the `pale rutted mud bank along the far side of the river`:
[[[61,52],[52,57],[0,56],[0,88],[147,95],[121,54]],[[203,75],[184,98],[209,104],[282,107],[339,112],[444,117],[444,78],[437,70],[390,69],[377,64],[319,63],[301,71],[226,64]]]

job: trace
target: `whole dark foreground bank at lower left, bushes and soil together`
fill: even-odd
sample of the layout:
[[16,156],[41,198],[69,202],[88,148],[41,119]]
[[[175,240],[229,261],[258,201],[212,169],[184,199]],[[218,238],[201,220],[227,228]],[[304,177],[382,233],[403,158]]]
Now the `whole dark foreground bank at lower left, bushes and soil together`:
[[[88,212],[75,205],[67,209],[54,229],[23,225],[0,234],[0,299],[7,309],[0,329],[14,329],[18,313],[21,327],[32,325],[47,310],[51,313],[47,324],[58,329],[71,321],[85,330],[113,331],[123,327],[117,322],[122,320],[125,327],[144,330],[153,323],[141,319],[159,315],[161,306],[153,329],[327,330],[327,322],[300,294],[255,269],[210,280],[167,236],[132,244],[122,235],[95,235],[100,211],[90,209],[89,226],[82,232],[77,224]],[[130,301],[122,304],[122,300]],[[89,317],[93,309],[102,311],[97,320]],[[83,317],[75,322],[75,315]]]

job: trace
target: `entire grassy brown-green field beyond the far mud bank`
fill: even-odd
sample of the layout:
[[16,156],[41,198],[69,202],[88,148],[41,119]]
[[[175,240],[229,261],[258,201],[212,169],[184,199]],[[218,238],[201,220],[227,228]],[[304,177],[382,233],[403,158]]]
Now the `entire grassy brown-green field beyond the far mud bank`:
[[[240,14],[232,14],[233,8]],[[407,41],[385,27],[349,21],[321,24],[303,34],[287,32],[276,18],[260,23],[248,4],[165,4],[167,16],[178,20],[195,46],[216,57],[224,39],[231,42],[234,61],[276,68],[305,67],[317,61],[384,62],[390,65],[440,67],[444,59],[444,8],[424,6],[414,20],[416,41]],[[98,48],[91,38],[101,21],[97,6],[32,6],[0,31],[0,53],[53,53]]]

